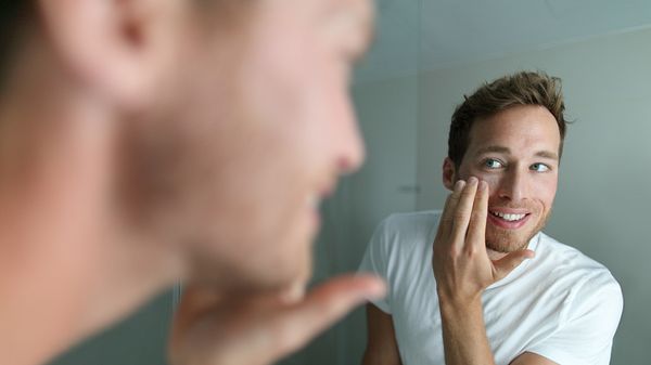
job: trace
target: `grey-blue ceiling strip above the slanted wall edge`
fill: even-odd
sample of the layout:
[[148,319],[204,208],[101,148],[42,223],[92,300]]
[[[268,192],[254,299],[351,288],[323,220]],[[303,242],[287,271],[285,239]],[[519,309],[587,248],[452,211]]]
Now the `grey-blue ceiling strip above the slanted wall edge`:
[[376,6],[376,39],[356,69],[357,83],[651,27],[650,0],[378,0]]

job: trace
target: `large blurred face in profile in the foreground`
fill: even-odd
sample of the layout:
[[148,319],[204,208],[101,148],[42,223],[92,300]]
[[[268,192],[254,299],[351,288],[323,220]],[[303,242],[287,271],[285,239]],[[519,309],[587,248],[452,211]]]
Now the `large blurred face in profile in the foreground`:
[[153,173],[162,221],[195,278],[306,281],[319,203],[363,159],[348,82],[370,41],[371,3],[247,2],[226,26],[215,8],[190,27],[176,99],[162,107],[166,122],[152,123],[165,154]]

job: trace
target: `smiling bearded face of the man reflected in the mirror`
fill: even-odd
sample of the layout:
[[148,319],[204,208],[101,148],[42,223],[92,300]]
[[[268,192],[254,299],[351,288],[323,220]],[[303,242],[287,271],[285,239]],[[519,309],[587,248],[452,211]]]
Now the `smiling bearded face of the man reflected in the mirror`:
[[488,183],[488,248],[522,249],[545,226],[557,191],[559,146],[557,121],[541,106],[512,107],[473,125],[452,181],[476,177]]

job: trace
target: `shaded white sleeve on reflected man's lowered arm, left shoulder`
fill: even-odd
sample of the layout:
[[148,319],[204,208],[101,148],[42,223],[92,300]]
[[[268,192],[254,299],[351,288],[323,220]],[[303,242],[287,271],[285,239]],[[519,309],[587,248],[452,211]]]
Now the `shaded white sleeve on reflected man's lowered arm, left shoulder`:
[[361,263],[359,264],[359,273],[370,273],[382,277],[387,283],[387,294],[383,299],[378,299],[371,301],[375,307],[382,310],[384,313],[391,314],[391,283],[388,275],[388,264],[387,264],[387,256],[388,256],[388,247],[390,237],[388,237],[388,229],[387,229],[387,219],[383,220],[373,236],[371,237],[371,242],[367,246],[366,253],[361,259]]

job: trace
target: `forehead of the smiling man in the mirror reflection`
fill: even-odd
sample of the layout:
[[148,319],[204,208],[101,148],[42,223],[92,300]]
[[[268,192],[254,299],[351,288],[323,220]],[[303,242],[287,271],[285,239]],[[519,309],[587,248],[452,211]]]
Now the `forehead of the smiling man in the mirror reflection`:
[[506,147],[511,154],[558,153],[561,135],[553,115],[542,106],[521,105],[476,120],[470,130],[468,152]]

